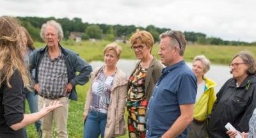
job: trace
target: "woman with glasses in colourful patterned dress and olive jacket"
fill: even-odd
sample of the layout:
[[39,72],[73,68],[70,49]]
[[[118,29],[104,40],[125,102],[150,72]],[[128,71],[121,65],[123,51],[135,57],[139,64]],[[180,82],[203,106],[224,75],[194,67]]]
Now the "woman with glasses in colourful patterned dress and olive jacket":
[[145,137],[145,112],[154,85],[158,81],[163,66],[151,54],[153,36],[147,31],[138,31],[131,38],[131,49],[140,60],[129,77],[127,91],[127,111],[129,137]]

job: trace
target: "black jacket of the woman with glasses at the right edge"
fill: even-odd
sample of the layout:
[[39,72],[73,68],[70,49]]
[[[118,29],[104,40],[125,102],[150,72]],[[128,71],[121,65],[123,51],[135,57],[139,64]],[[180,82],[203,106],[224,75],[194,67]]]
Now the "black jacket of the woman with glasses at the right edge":
[[240,132],[248,132],[249,119],[256,107],[256,76],[249,75],[239,87],[229,79],[217,94],[209,120],[210,137],[228,137],[225,125],[230,122]]

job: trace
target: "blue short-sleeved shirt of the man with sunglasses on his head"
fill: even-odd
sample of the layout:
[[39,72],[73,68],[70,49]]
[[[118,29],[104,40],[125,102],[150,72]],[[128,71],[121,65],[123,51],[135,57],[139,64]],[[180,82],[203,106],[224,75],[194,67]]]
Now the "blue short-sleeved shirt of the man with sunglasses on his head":
[[[196,77],[185,61],[163,69],[147,107],[147,137],[163,135],[180,116],[179,105],[195,104]],[[186,137],[184,130],[179,137]]]

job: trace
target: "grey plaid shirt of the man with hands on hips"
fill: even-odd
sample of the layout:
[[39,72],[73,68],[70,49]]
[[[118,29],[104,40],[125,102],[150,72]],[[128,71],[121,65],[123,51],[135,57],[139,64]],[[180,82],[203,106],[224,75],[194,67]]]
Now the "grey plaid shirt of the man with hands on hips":
[[67,96],[65,86],[68,83],[67,66],[65,64],[64,55],[51,60],[47,51],[39,65],[38,83],[41,88],[41,95],[46,98],[58,98]]

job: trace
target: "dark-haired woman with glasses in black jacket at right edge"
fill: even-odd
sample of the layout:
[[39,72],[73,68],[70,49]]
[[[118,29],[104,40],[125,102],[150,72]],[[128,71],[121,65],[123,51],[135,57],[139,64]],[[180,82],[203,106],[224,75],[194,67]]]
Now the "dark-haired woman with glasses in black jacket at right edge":
[[237,54],[230,64],[229,79],[217,94],[208,131],[210,137],[228,137],[225,125],[248,132],[249,120],[256,107],[256,63],[248,52]]

